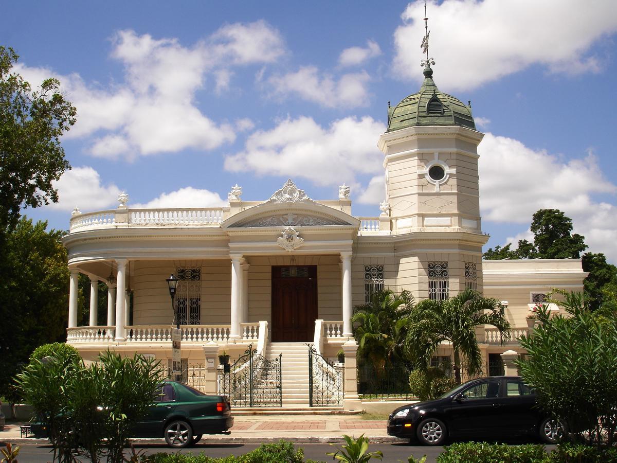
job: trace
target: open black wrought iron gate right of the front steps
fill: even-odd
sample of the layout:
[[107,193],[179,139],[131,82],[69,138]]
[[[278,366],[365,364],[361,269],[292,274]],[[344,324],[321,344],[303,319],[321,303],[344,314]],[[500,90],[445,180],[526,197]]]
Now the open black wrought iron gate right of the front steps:
[[333,407],[343,404],[343,367],[334,365],[309,346],[309,405]]

